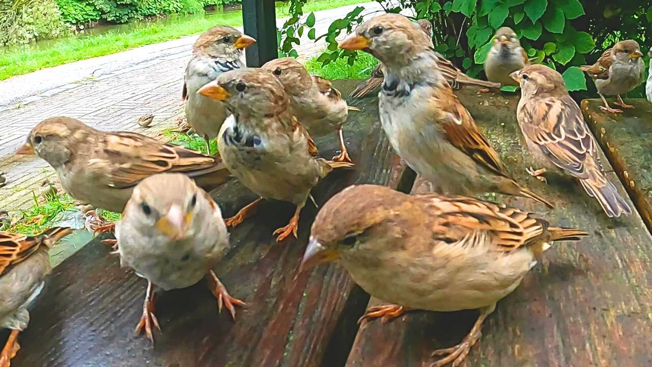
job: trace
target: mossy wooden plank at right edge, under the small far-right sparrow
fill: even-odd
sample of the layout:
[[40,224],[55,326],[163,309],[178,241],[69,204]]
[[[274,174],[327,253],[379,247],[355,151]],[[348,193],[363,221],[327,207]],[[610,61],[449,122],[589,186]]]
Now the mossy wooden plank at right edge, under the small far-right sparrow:
[[652,231],[652,103],[647,99],[627,103],[636,108],[616,116],[600,111],[599,99],[585,99],[582,114]]

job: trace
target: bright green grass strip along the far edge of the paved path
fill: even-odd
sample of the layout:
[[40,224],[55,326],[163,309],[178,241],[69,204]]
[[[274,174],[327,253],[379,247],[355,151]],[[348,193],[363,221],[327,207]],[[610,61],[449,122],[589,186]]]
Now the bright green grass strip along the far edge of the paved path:
[[[304,13],[343,7],[365,0],[315,0],[304,6]],[[287,16],[288,8],[279,7],[276,16]],[[242,25],[240,10],[208,16],[193,16],[178,23],[138,24],[127,31],[110,31],[101,35],[71,37],[52,42],[47,48],[23,46],[0,49],[0,80],[91,57],[115,54],[135,48],[201,33],[216,24]]]

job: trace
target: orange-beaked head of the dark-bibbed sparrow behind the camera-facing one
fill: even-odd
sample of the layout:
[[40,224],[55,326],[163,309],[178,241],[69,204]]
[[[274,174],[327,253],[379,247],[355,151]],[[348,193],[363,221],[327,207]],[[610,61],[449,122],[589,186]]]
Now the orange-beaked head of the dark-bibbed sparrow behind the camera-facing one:
[[220,74],[197,91],[223,101],[235,114],[274,116],[288,108],[288,95],[271,72],[245,67]]

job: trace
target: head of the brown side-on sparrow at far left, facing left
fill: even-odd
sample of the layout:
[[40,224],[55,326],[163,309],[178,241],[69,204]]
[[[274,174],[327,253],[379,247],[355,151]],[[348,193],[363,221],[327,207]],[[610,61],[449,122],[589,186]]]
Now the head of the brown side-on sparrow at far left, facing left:
[[78,142],[94,131],[95,129],[74,118],[47,118],[29,132],[27,142],[16,153],[36,154],[53,168],[59,168],[70,160]]

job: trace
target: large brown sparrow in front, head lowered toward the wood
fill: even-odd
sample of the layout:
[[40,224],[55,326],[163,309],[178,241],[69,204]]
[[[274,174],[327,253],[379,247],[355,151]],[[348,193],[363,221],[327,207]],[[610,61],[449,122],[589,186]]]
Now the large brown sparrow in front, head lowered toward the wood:
[[393,303],[369,309],[363,320],[479,308],[461,343],[433,353],[444,357],[431,366],[458,366],[496,302],[518,287],[552,241],[586,235],[482,200],[358,185],[319,210],[301,270],[336,261],[364,291]]

